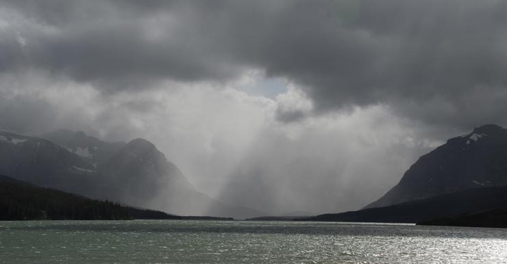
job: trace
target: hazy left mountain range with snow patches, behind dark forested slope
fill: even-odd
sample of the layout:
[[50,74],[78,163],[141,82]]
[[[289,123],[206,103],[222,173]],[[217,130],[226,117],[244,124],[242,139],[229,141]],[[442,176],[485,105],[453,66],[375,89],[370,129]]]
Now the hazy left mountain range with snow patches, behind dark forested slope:
[[51,141],[0,132],[0,173],[42,187],[177,215],[264,215],[199,193],[180,169],[145,139],[107,143],[70,130],[43,136]]

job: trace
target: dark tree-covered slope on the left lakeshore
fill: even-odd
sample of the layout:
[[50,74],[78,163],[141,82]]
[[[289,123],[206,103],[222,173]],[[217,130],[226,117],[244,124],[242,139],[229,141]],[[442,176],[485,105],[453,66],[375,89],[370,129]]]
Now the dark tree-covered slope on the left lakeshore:
[[181,219],[160,211],[88,199],[0,175],[0,220]]

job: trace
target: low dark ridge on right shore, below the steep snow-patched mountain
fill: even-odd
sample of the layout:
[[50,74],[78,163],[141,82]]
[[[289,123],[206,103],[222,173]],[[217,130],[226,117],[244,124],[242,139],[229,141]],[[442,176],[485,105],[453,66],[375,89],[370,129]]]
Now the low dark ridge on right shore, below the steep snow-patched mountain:
[[442,217],[457,217],[507,206],[507,187],[473,188],[360,211],[317,215],[304,221],[354,221],[383,223],[418,223]]

